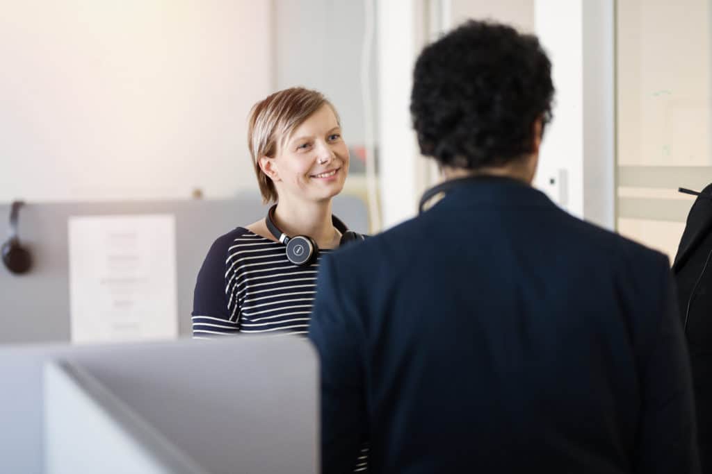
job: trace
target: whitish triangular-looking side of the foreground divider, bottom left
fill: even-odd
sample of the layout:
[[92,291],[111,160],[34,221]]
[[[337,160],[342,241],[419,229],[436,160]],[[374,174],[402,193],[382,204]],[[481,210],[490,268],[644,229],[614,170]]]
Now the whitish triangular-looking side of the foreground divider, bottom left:
[[80,367],[48,362],[44,384],[46,474],[209,474]]

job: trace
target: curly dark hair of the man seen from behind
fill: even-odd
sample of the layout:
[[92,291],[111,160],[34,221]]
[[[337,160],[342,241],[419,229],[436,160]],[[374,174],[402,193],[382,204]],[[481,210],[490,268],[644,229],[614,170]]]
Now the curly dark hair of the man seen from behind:
[[551,63],[535,36],[467,21],[420,54],[410,112],[421,153],[476,170],[530,153],[534,122],[550,121],[553,97]]

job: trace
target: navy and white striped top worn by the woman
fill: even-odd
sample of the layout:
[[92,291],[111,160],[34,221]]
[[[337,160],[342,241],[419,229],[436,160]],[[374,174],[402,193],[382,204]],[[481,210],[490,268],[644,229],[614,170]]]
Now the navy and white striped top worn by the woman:
[[285,246],[237,227],[219,237],[198,274],[194,338],[234,333],[306,334],[316,294],[316,263],[296,266]]

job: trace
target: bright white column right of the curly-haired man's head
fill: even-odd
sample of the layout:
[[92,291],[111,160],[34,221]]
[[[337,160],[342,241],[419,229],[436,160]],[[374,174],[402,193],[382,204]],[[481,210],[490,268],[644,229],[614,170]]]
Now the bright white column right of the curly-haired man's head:
[[613,229],[613,1],[535,0],[534,7],[556,88],[535,185],[573,215]]

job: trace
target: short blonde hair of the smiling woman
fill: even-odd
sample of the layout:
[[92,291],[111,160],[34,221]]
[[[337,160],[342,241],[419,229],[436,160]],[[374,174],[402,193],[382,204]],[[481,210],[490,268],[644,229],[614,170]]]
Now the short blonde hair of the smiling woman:
[[324,104],[331,107],[340,125],[339,114],[331,102],[321,92],[304,87],[280,90],[252,107],[248,118],[247,144],[264,203],[276,201],[277,190],[271,178],[260,168],[260,157],[273,158],[294,129]]

